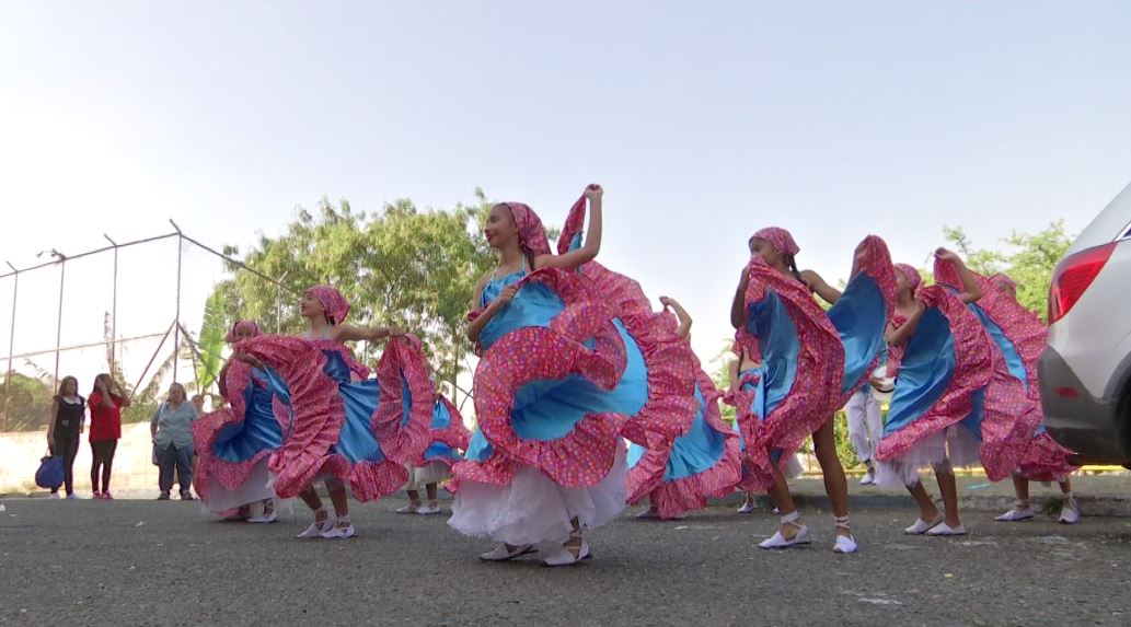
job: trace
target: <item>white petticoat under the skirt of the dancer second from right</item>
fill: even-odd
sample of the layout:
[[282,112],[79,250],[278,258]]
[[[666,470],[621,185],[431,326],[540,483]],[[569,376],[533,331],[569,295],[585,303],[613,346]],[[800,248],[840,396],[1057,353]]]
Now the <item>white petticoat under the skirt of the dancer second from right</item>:
[[875,482],[884,488],[912,487],[920,471],[981,465],[978,439],[961,425],[934,433],[893,460],[878,461]]

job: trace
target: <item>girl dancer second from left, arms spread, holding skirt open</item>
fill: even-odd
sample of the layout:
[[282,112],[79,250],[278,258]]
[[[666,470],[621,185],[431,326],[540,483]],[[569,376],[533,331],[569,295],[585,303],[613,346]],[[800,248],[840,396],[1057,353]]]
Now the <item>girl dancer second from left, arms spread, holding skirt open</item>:
[[[280,498],[299,496],[314,513],[299,538],[352,538],[346,482],[362,502],[405,485],[405,462],[429,443],[432,387],[420,340],[398,329],[346,324],[349,304],[336,289],[310,288],[300,313],[308,322],[303,336],[260,336],[241,341],[236,351],[267,372],[273,390],[290,401],[283,445],[269,469]],[[375,378],[366,378],[369,368],[344,343],[361,340],[389,340]],[[334,517],[314,491],[319,480]]]

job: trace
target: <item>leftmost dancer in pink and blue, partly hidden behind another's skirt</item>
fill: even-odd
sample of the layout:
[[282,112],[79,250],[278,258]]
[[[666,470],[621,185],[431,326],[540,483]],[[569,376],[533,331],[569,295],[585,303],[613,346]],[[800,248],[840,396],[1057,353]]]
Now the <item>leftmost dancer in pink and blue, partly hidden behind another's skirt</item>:
[[[226,340],[236,343],[259,334],[259,325],[241,320]],[[197,451],[193,477],[205,507],[225,519],[275,522],[275,490],[267,469],[270,454],[283,445],[282,425],[290,420],[286,403],[268,382],[268,373],[244,365],[225,365],[218,376],[227,403],[192,423]],[[260,511],[251,515],[251,506]]]

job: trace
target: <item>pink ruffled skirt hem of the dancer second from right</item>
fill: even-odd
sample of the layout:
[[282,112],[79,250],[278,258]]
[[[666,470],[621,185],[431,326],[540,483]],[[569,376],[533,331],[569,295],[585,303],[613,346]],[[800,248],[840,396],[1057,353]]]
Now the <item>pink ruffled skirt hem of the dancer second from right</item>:
[[880,441],[875,460],[881,462],[892,461],[923,439],[962,421],[974,410],[974,393],[988,385],[994,376],[992,342],[966,304],[938,285],[921,288],[917,296],[927,307],[938,307],[950,324],[955,369],[950,384],[931,409]]

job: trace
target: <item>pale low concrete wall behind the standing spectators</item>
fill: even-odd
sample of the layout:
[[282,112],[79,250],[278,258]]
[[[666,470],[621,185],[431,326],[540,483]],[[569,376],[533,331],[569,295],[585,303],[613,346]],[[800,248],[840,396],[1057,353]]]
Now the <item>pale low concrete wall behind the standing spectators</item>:
[[[75,460],[75,491],[90,496],[90,445],[83,434]],[[46,493],[35,486],[40,458],[48,451],[48,432],[0,433],[0,494]],[[122,438],[114,455],[110,490],[114,496],[156,496],[157,467],[153,465],[149,423],[122,425]]]

